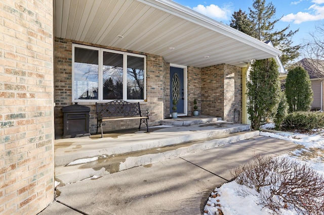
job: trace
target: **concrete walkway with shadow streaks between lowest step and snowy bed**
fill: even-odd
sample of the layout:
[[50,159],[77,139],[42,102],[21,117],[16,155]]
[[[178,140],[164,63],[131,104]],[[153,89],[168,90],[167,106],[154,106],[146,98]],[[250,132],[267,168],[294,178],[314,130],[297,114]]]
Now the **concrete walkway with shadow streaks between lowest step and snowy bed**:
[[229,170],[255,154],[280,155],[294,143],[257,136],[57,188],[49,214],[201,214]]

